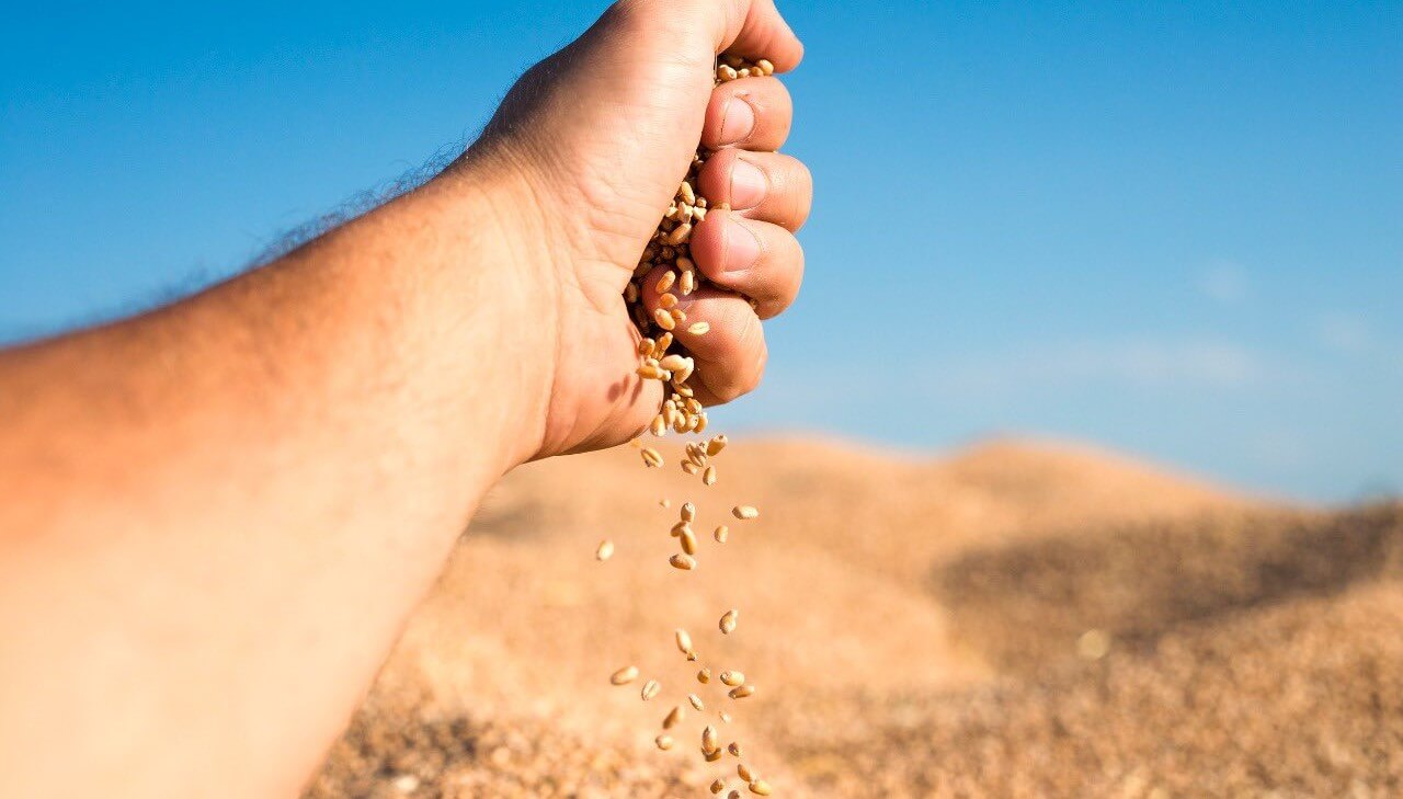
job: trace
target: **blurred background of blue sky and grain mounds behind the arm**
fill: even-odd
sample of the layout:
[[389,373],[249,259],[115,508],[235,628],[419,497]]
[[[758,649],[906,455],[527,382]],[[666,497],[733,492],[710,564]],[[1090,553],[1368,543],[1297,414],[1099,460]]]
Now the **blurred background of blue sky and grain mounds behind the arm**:
[[[7,8],[0,342],[373,202],[602,7]],[[508,475],[309,799],[744,789],[717,708],[783,796],[1397,795],[1403,4],[781,7],[818,200],[751,435]]]

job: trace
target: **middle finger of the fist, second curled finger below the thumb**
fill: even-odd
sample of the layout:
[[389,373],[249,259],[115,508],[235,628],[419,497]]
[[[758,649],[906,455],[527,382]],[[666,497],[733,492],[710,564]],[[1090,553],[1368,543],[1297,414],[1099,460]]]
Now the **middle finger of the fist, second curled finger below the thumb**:
[[721,150],[702,167],[697,189],[713,205],[727,203],[745,219],[788,231],[808,219],[814,178],[797,158],[779,153]]

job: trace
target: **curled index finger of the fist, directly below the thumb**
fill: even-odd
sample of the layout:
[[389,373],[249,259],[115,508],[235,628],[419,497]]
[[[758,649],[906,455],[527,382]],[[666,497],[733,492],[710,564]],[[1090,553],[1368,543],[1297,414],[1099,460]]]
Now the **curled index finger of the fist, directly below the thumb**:
[[794,121],[794,102],[773,77],[744,77],[711,91],[702,126],[707,150],[779,150]]

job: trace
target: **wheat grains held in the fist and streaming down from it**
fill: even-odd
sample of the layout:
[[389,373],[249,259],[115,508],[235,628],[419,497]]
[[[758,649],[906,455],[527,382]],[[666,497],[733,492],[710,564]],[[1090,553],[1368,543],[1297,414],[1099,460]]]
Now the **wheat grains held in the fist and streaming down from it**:
[[[723,55],[718,59],[716,69],[716,83],[717,86],[751,76],[769,76],[774,73],[774,64],[760,59],[758,62],[749,63],[744,59]],[[687,170],[686,178],[678,188],[678,192],[668,206],[666,214],[664,214],[662,221],[658,224],[658,230],[652,237],[652,241],[643,251],[643,257],[638,259],[638,266],[634,269],[633,279],[629,282],[624,290],[624,301],[629,306],[629,313],[633,315],[634,322],[638,325],[638,331],[643,339],[638,342],[638,357],[641,363],[638,364],[637,374],[644,380],[657,380],[662,383],[664,400],[658,415],[654,416],[652,423],[648,426],[657,437],[666,436],[668,432],[673,433],[702,433],[707,429],[707,415],[702,402],[694,397],[694,392],[687,387],[687,378],[696,367],[693,359],[682,350],[682,345],[678,343],[680,352],[672,352],[675,336],[673,332],[685,329],[689,335],[706,335],[710,331],[707,322],[693,321],[687,324],[686,313],[678,307],[679,294],[682,297],[690,296],[699,287],[706,285],[706,279],[697,271],[696,264],[690,258],[689,240],[692,235],[692,226],[700,223],[706,219],[707,210],[713,206],[709,205],[704,196],[700,196],[696,191],[697,175],[702,167],[706,164],[707,153],[699,150],[693,158],[692,165]],[[718,206],[718,207],[725,207]],[[651,275],[662,271],[661,278],[657,278],[652,283],[652,289],[658,294],[658,307],[648,313],[644,303],[644,296],[647,294],[648,286],[645,280]],[[752,300],[753,304],[753,300]],[[661,468],[664,465],[662,454],[652,447],[645,447],[638,442],[640,456],[647,468]],[[724,435],[711,436],[706,440],[694,440],[686,444],[686,460],[682,461],[682,471],[689,475],[700,475],[702,485],[716,485],[718,474],[716,464],[711,463],[721,450],[727,446],[727,439]],[[665,503],[664,507],[668,505]],[[732,516],[737,520],[748,521],[756,519],[759,512],[751,506],[737,506],[732,509]],[[678,540],[680,552],[672,555],[668,562],[682,571],[692,571],[697,566],[697,535],[692,528],[692,523],[696,521],[697,509],[693,503],[686,502],[682,505],[678,523],[672,527],[672,537]],[[717,544],[725,544],[730,535],[730,530],[725,524],[718,526],[711,537]],[[605,541],[599,545],[596,551],[596,558],[599,561],[606,561],[613,554],[613,542]],[[730,635],[735,631],[739,620],[739,611],[731,608],[725,611],[717,627],[721,629],[723,635]],[[692,636],[686,629],[678,628],[675,631],[675,641],[678,650],[686,656],[687,662],[697,662],[699,655],[692,646]],[[638,677],[638,669],[634,666],[626,666],[619,669],[610,677],[610,683],[615,685],[624,685],[631,683]],[[707,684],[711,681],[711,669],[702,666],[696,674],[697,683]],[[755,685],[746,683],[745,674],[727,669],[717,674],[717,678],[723,685],[730,688],[725,694],[731,701],[739,701],[755,694]],[[662,685],[658,680],[648,680],[640,697],[643,701],[650,701],[655,698],[662,691]],[[697,713],[706,713],[706,704],[697,694],[687,694],[686,704]],[[687,711],[683,709],[682,704],[673,705],[668,711],[666,716],[662,719],[662,733],[654,740],[659,750],[671,750],[678,742],[668,730],[683,722]],[[731,722],[731,713],[727,711],[718,711],[717,719],[723,725]],[[742,749],[739,742],[730,742],[723,747],[721,733],[714,725],[706,725],[702,730],[700,753],[706,763],[718,763],[727,754],[735,760],[735,774],[739,777],[745,788],[751,793],[758,796],[769,796],[772,788],[769,782],[756,775],[742,760]],[[718,777],[711,785],[710,791],[714,795],[720,795],[727,789],[725,777]],[[727,799],[739,799],[741,791],[732,789],[727,793]]]

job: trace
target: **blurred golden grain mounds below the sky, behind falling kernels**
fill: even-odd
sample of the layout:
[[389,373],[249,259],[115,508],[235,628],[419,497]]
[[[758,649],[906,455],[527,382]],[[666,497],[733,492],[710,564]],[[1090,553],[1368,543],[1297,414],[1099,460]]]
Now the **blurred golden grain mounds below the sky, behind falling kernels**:
[[[718,516],[759,506],[763,534],[732,524],[679,572],[662,530],[696,478],[680,443],[659,449],[672,468],[640,474],[620,447],[502,481],[307,798],[710,796],[703,722],[744,728],[746,764],[790,799],[1403,785],[1403,505],[1301,513],[1065,446],[745,439],[699,492]],[[672,507],[638,502],[641,477]],[[679,620],[710,684],[673,648]],[[1080,646],[1093,629],[1108,646]],[[609,688],[624,664],[638,680]],[[718,669],[760,691],[731,706]],[[666,690],[643,702],[650,678]],[[672,705],[687,722],[658,753]]]

